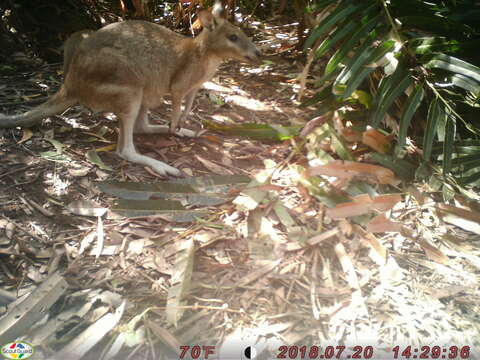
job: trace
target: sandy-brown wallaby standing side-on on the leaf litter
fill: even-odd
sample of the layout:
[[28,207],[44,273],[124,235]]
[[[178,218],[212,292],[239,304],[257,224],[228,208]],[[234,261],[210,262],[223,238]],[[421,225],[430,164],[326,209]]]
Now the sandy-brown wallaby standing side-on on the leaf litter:
[[[1,115],[0,127],[32,126],[80,103],[95,111],[117,115],[120,124],[117,154],[152,167],[161,175],[181,173],[161,161],[139,154],[133,133],[175,133],[195,136],[179,125],[189,114],[201,85],[212,78],[223,60],[255,63],[260,51],[236,26],[222,16],[217,1],[210,13],[198,13],[203,31],[195,38],[145,21],[113,23],[67,41],[65,80],[46,103],[20,115]],[[148,110],[172,96],[170,127],[152,125]],[[185,99],[182,113],[181,104]]]

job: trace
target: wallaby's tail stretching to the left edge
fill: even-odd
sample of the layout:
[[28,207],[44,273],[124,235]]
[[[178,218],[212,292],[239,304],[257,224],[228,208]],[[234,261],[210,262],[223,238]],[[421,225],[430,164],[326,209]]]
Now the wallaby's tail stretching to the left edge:
[[0,128],[14,128],[17,126],[30,127],[46,117],[65,111],[70,106],[75,105],[75,103],[75,99],[68,97],[65,88],[62,86],[60,90],[45,103],[26,113],[18,115],[0,114]]

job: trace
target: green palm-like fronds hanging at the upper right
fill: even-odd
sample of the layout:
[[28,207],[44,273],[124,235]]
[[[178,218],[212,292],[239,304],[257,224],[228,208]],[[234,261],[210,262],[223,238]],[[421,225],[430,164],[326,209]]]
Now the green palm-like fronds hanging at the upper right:
[[[472,142],[480,134],[475,65],[480,5],[472,0],[336,4],[317,7],[330,13],[305,42],[315,61],[327,62],[317,81],[321,89],[304,105],[316,104],[320,113],[336,110],[345,121],[357,119],[358,128],[396,122],[395,152],[383,158],[406,160],[410,175],[415,163],[421,172],[440,165],[446,181],[479,185],[480,148]],[[370,96],[368,106],[355,101],[352,94],[358,93]],[[406,151],[408,144],[421,151]]]

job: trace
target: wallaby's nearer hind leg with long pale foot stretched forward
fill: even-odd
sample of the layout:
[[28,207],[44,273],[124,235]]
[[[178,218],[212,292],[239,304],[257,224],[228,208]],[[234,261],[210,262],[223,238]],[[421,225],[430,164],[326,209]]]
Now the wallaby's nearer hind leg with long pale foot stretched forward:
[[151,157],[139,154],[133,144],[133,130],[135,127],[135,120],[141,112],[141,97],[136,99],[130,98],[130,103],[125,106],[125,109],[117,112],[120,122],[120,134],[118,135],[117,154],[133,163],[150,166],[153,170],[163,176],[173,175],[181,176],[178,169],[165,164],[164,162],[155,160]]

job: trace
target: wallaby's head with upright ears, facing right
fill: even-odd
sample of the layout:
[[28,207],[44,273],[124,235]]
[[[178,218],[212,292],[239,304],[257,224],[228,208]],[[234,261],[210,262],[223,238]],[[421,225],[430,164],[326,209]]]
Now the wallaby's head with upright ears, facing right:
[[215,3],[212,12],[202,10],[198,17],[203,26],[200,36],[206,50],[221,59],[258,63],[261,52],[237,26],[223,16],[223,7]]

